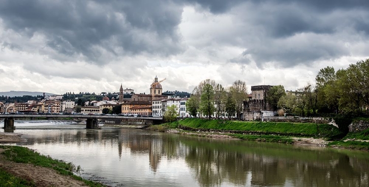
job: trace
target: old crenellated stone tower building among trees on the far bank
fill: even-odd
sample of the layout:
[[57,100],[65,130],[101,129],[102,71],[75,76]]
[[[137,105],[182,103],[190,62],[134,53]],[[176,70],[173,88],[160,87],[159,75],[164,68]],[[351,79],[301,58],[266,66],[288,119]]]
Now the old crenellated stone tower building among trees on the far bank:
[[267,93],[273,86],[251,86],[251,99],[244,101],[244,120],[262,120],[264,116],[274,116],[274,108],[267,100]]

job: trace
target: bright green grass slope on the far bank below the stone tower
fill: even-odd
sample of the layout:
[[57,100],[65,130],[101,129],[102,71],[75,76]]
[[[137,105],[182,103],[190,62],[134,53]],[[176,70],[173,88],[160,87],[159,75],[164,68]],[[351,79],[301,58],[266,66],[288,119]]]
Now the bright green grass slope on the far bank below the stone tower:
[[244,131],[252,132],[253,134],[277,134],[319,138],[330,138],[341,134],[332,125],[311,123],[235,122],[191,118],[163,125],[169,127],[178,125],[188,130]]

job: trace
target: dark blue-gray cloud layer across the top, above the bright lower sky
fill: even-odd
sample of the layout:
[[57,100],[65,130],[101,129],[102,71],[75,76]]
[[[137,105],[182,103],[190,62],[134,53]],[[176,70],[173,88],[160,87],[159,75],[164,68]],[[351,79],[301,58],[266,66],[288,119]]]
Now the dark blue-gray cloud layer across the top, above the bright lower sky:
[[0,18],[5,29],[23,37],[43,34],[41,55],[103,65],[126,56],[182,53],[186,44],[178,25],[185,5],[232,16],[233,27],[224,28],[229,34],[213,31],[206,46],[215,58],[221,52],[214,43],[246,49],[229,62],[309,64],[348,56],[352,49],[345,43],[369,40],[368,0],[0,0]]

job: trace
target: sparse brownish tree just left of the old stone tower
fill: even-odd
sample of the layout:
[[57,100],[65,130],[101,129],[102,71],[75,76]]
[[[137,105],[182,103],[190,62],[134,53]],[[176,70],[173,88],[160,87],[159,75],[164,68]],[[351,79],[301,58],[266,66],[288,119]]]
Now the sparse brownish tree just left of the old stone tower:
[[237,80],[229,87],[229,92],[236,103],[237,119],[240,120],[244,100],[247,99],[247,86],[245,81]]

